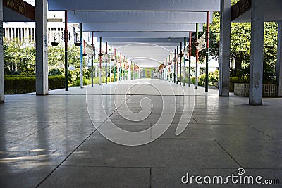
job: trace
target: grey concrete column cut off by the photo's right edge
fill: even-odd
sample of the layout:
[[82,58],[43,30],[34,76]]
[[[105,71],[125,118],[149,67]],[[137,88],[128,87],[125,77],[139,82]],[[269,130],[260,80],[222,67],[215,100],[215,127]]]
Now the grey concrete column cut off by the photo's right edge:
[[282,97],[282,21],[278,22],[278,46],[277,46],[277,80],[278,96]]

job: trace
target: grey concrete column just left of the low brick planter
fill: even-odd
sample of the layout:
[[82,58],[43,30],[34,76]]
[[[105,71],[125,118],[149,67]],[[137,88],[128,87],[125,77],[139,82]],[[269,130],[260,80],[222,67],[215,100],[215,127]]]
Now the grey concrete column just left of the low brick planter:
[[219,44],[219,96],[229,96],[231,0],[221,0],[221,24]]

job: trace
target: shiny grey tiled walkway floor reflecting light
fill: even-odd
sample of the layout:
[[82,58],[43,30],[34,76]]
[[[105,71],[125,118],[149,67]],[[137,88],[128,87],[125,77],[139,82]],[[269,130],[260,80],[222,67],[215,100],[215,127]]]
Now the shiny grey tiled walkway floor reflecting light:
[[226,187],[282,187],[282,99],[217,95],[135,80],[6,96],[0,187],[219,187],[181,179],[238,168],[280,184]]

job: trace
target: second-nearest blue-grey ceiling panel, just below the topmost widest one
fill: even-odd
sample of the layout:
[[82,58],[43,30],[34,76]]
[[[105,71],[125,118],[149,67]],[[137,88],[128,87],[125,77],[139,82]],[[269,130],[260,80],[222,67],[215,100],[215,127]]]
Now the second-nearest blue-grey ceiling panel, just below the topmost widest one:
[[[210,12],[212,23],[212,12]],[[69,11],[68,23],[207,23],[205,12]]]

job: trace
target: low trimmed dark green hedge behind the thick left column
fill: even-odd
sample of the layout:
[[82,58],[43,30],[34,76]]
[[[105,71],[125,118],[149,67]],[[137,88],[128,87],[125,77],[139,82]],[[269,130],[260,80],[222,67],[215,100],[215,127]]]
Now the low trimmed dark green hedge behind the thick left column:
[[[23,77],[20,75],[5,75],[5,94],[25,94],[35,92],[35,77]],[[65,87],[65,77],[49,76],[49,89],[61,89]]]

